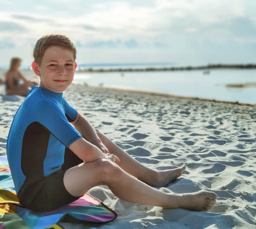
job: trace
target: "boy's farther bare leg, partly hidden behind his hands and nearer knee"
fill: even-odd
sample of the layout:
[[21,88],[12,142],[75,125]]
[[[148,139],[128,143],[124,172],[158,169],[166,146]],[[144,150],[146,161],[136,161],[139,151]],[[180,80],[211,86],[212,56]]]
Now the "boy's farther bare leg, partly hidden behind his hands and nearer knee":
[[102,143],[108,148],[110,154],[114,154],[119,157],[120,162],[117,162],[117,164],[124,171],[134,177],[137,177],[139,180],[142,180],[152,187],[160,188],[168,186],[169,183],[180,177],[186,169],[186,165],[165,171],[156,171],[150,169],[131,157],[122,148],[108,139],[107,136],[99,132],[99,130],[96,130],[96,133],[101,139]]

